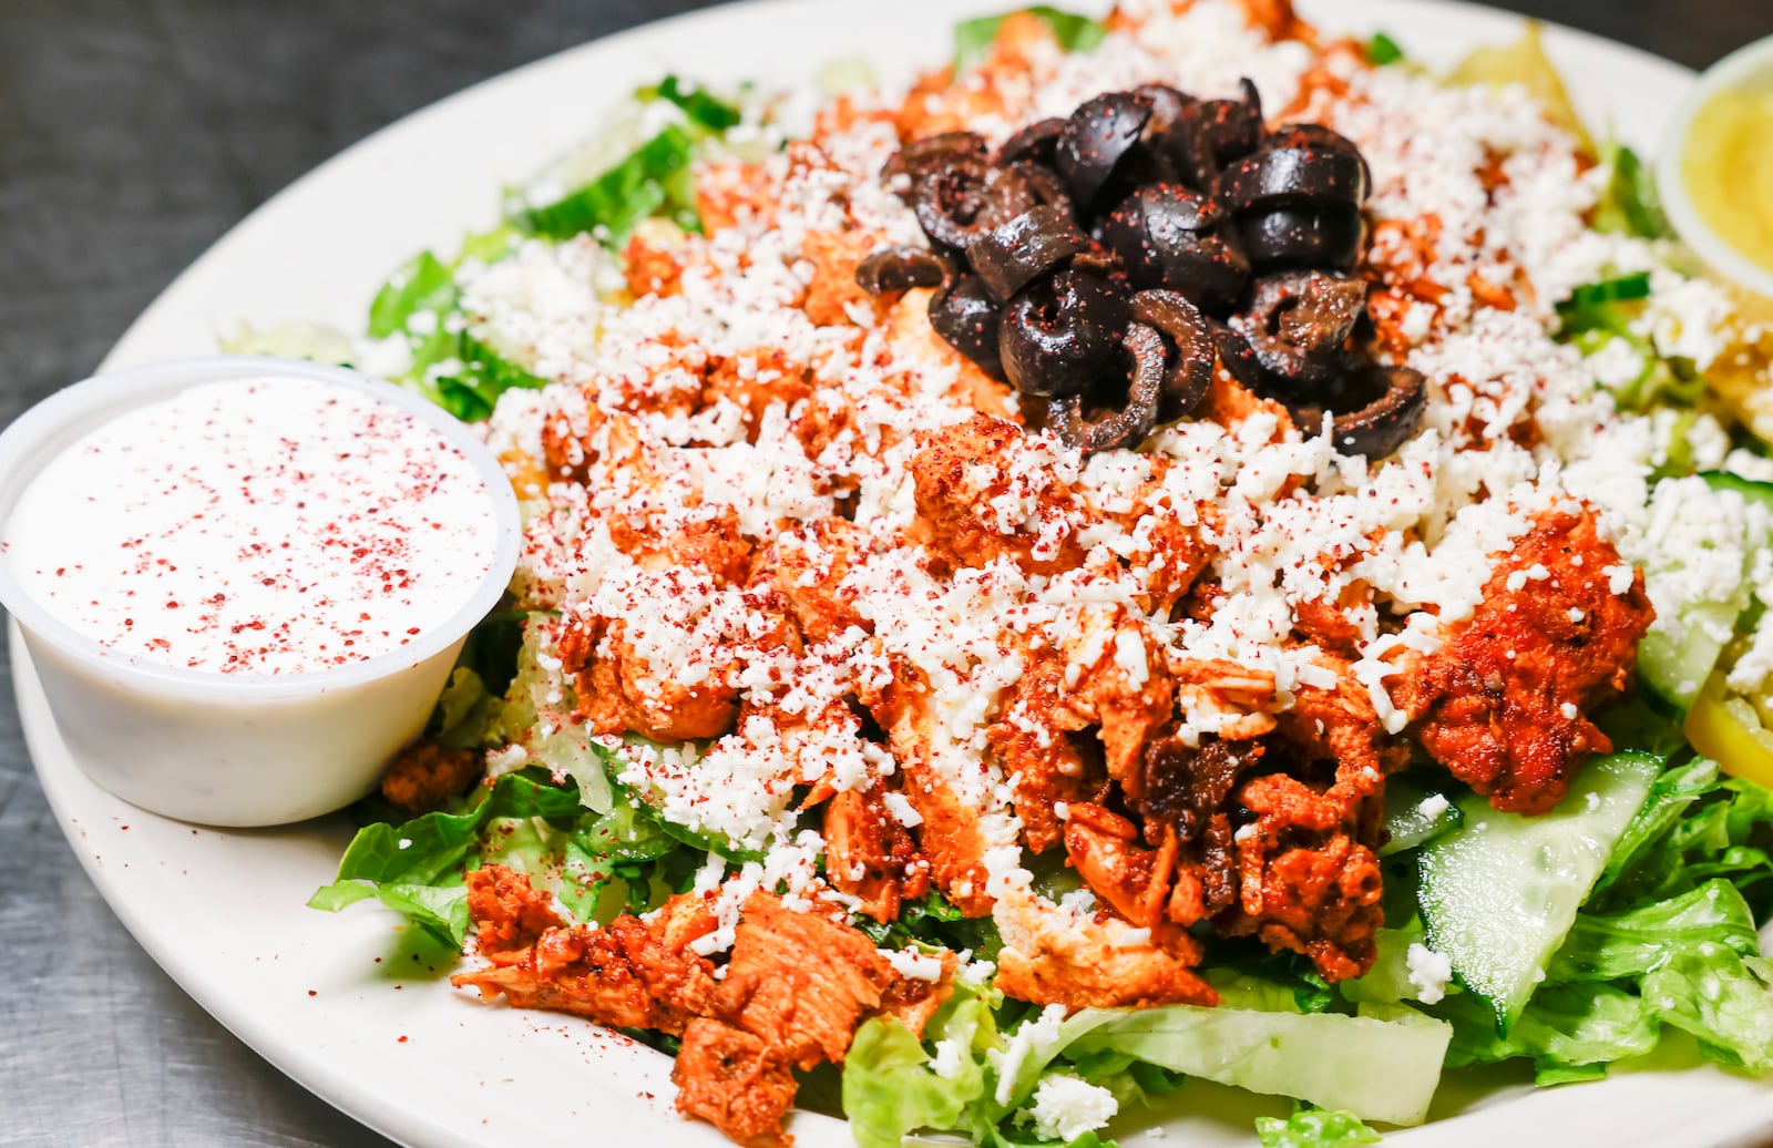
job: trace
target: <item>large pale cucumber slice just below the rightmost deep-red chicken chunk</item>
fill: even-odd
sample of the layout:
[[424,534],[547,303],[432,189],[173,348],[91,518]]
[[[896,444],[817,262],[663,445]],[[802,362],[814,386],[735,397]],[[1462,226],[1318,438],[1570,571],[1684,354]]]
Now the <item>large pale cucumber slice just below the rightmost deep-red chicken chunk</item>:
[[1619,834],[1644,804],[1661,760],[1615,753],[1582,767],[1543,817],[1459,799],[1464,824],[1417,854],[1417,904],[1429,948],[1496,1012],[1507,1035],[1589,898]]

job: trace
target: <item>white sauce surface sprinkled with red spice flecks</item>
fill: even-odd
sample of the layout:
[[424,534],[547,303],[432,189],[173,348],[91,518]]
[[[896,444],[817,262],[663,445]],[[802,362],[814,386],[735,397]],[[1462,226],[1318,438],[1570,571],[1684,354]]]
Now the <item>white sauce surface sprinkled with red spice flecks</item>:
[[310,379],[204,383],[92,430],[0,553],[57,620],[133,657],[328,670],[445,622],[491,569],[480,473],[401,407]]

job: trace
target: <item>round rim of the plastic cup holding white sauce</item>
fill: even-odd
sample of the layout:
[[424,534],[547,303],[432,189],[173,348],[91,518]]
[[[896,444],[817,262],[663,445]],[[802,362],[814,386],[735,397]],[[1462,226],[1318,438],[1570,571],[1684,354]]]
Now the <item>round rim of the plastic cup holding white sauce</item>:
[[358,392],[415,416],[436,430],[473,466],[491,500],[493,558],[473,593],[445,622],[420,632],[408,645],[344,666],[294,673],[223,673],[158,663],[140,654],[121,654],[96,638],[59,620],[14,578],[11,562],[0,558],[0,606],[30,636],[53,643],[64,655],[89,670],[129,679],[138,687],[220,702],[220,691],[241,698],[285,700],[351,689],[410,670],[463,640],[504,597],[518,565],[521,517],[511,480],[493,452],[473,430],[440,406],[346,367],[255,354],[209,354],[105,370],[43,399],[0,432],[0,526],[11,517],[30,480],[80,436],[121,413],[168,399],[190,386],[230,379],[307,379]]

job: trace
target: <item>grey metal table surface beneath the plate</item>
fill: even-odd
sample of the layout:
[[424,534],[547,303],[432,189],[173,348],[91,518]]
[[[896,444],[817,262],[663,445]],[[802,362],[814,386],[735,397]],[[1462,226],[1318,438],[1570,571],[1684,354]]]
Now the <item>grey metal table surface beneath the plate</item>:
[[[480,78],[693,7],[4,0],[0,425],[87,376],[184,264],[326,156]],[[1690,66],[1773,34],[1769,0],[1505,7]],[[0,698],[0,1143],[387,1144],[234,1040],[124,932],[44,803],[4,659]]]

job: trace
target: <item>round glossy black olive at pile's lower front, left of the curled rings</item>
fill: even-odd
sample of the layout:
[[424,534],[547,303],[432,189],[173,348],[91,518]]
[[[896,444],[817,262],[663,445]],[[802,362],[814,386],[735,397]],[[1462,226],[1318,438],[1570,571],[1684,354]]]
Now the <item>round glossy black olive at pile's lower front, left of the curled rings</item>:
[[1004,308],[998,353],[1025,395],[1076,395],[1121,372],[1126,296],[1082,271],[1032,283]]

